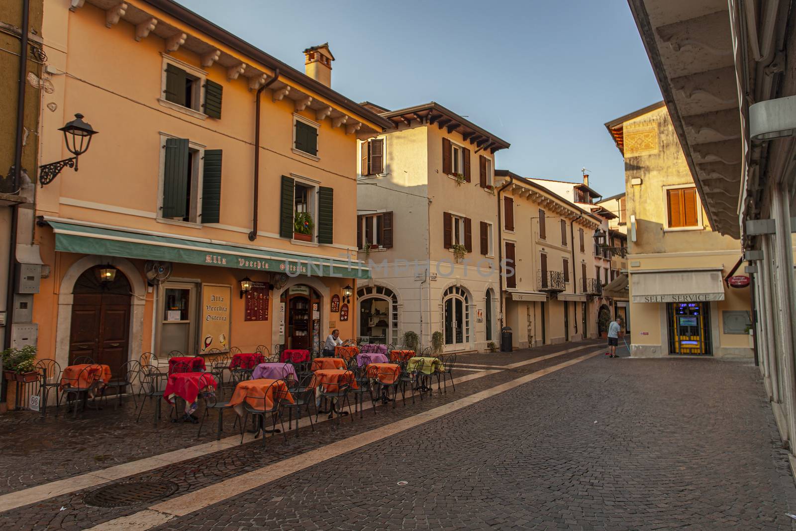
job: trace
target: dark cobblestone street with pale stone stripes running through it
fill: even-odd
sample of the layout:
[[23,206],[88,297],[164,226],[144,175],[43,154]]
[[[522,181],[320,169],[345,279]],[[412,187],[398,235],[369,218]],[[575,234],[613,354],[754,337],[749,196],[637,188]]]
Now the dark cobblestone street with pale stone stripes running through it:
[[[131,404],[77,420],[15,413],[0,434],[14,458],[0,528],[793,529],[796,488],[757,368],[598,349],[462,356],[455,392],[264,448],[237,444],[232,414],[232,436],[211,447],[214,426],[201,439],[189,424],[153,428],[148,408],[135,424]],[[120,478],[177,490],[84,502]]]

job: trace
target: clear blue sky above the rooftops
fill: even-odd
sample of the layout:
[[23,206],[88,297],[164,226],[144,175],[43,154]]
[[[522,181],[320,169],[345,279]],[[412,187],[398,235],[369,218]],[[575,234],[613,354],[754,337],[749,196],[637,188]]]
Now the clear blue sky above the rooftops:
[[181,0],[303,71],[329,41],[332,87],[389,109],[436,101],[511,143],[497,168],[624,189],[603,123],[661,100],[626,0]]

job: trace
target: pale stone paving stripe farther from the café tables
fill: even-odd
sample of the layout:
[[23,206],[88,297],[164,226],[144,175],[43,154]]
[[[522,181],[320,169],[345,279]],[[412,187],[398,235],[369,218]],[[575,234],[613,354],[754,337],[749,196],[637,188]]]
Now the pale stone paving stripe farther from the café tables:
[[[563,363],[553,365],[547,369],[540,369],[535,373],[516,378],[505,384],[496,385],[494,388],[486,389],[485,391],[476,392],[470,396],[465,396],[448,404],[432,408],[427,412],[418,413],[417,415],[398,420],[392,424],[374,428],[373,430],[365,431],[365,433],[353,435],[348,439],[342,439],[336,443],[328,444],[325,447],[305,452],[302,455],[283,459],[267,467],[252,470],[251,472],[240,474],[234,478],[225,479],[214,485],[194,490],[193,492],[183,494],[177,498],[171,498],[166,502],[157,503],[147,508],[147,510],[140,511],[131,516],[115,518],[103,522],[102,524],[88,528],[88,531],[146,531],[146,529],[152,529],[175,517],[185,516],[186,514],[202,510],[218,502],[224,502],[224,500],[243,494],[247,490],[255,489],[259,486],[276,481],[279,478],[283,478],[288,474],[294,474],[300,470],[312,467],[315,464],[322,463],[327,459],[343,455],[349,451],[375,443],[380,439],[396,435],[401,431],[415,428],[419,426],[419,424],[424,424],[429,420],[435,420],[472,404],[477,404],[482,400],[509,391],[519,385],[527,384],[529,381],[534,381],[547,374],[555,373],[560,369],[575,365],[580,361],[595,357],[600,353],[603,353],[603,349],[584,354],[583,356],[576,357],[569,361],[564,361]],[[159,514],[156,516],[152,514],[153,512]],[[141,517],[137,517],[137,515],[141,515]],[[146,524],[145,519],[151,521],[151,525]]]

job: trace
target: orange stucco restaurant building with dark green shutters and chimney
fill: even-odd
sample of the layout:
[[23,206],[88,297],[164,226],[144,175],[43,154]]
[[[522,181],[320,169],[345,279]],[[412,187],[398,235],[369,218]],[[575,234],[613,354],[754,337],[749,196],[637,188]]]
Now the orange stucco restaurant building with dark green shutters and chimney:
[[37,189],[40,357],[354,336],[356,134],[391,124],[330,88],[328,46],[306,75],[169,0],[47,0],[43,28],[41,158],[76,113],[99,133]]

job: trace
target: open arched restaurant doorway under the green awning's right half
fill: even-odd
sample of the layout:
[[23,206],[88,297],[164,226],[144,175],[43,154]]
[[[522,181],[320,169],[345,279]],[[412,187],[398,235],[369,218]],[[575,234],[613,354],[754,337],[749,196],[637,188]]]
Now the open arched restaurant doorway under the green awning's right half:
[[322,297],[314,287],[296,284],[282,292],[287,311],[285,346],[288,349],[319,349]]

